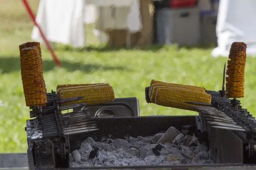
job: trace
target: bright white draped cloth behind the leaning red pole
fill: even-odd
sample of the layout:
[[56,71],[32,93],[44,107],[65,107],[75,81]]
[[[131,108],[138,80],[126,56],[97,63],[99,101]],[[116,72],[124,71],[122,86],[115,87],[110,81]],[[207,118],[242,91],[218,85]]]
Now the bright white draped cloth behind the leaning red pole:
[[[36,21],[50,42],[84,44],[83,0],[40,0]],[[32,40],[43,42],[34,26]]]

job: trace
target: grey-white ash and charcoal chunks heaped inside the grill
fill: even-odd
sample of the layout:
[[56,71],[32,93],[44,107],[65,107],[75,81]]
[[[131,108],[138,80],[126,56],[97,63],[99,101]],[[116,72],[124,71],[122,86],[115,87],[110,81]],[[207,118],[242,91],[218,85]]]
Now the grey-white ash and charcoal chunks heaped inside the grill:
[[70,167],[212,164],[210,153],[200,150],[195,136],[184,135],[175,127],[154,136],[104,142],[88,137],[80,150],[70,154]]

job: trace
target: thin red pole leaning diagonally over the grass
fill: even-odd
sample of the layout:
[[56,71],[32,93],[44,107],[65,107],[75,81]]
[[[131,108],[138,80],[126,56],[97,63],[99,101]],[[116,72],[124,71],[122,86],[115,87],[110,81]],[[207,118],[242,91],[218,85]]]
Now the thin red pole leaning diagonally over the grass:
[[56,63],[57,65],[61,66],[61,62],[58,60],[58,58],[57,58],[57,56],[55,55],[55,53],[54,53],[54,51],[53,51],[53,49],[52,49],[52,47],[51,47],[49,41],[47,41],[46,37],[44,36],[43,31],[41,30],[40,26],[39,26],[38,23],[36,22],[36,20],[35,20],[35,15],[33,14],[32,10],[31,10],[31,8],[30,8],[30,6],[29,6],[29,3],[28,3],[26,0],[22,0],[22,1],[23,1],[24,5],[26,6],[26,10],[28,11],[29,16],[31,17],[31,19],[32,19],[32,21],[34,22],[35,26],[38,27],[38,30],[39,30],[39,32],[40,32],[40,34],[41,34],[41,37],[43,38],[43,40],[44,40],[44,42],[45,42],[45,44],[46,44],[48,50],[49,50],[50,53],[52,54],[52,57],[53,57],[55,63]]

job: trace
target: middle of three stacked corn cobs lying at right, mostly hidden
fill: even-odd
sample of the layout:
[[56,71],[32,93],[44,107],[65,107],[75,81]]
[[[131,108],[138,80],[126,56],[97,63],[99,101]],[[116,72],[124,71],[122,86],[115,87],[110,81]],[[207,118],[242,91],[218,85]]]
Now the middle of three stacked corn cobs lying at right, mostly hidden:
[[188,87],[186,85],[183,85],[183,86],[180,86],[180,85],[177,85],[175,86],[176,84],[172,84],[172,85],[168,85],[168,84],[159,84],[159,83],[156,83],[156,84],[153,84],[151,86],[151,96],[150,96],[150,101],[152,103],[155,103],[155,98],[156,98],[156,91],[157,91],[157,88],[171,88],[171,89],[184,89],[184,90],[191,90],[191,91],[198,91],[198,92],[204,92],[205,93],[205,90],[204,88],[191,88],[191,87]]

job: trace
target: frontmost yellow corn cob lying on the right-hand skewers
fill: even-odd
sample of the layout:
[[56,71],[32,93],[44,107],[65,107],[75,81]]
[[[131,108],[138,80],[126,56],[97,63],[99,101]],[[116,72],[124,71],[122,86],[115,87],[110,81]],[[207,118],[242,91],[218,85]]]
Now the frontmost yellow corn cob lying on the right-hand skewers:
[[196,111],[189,106],[195,106],[185,102],[211,103],[212,96],[205,92],[191,91],[188,89],[157,88],[156,104],[166,107]]

